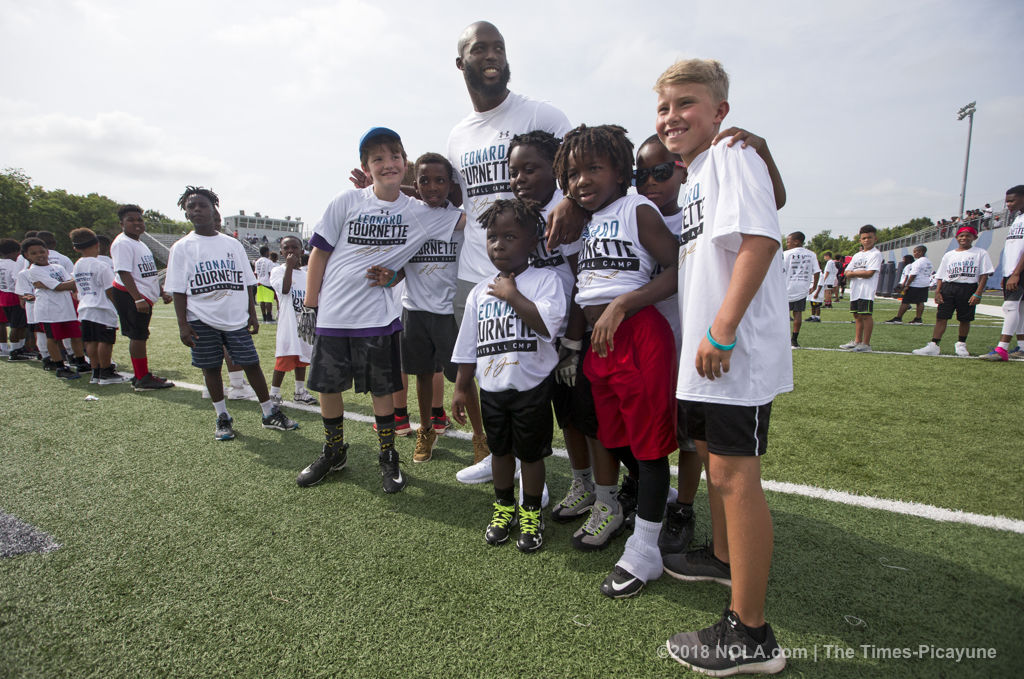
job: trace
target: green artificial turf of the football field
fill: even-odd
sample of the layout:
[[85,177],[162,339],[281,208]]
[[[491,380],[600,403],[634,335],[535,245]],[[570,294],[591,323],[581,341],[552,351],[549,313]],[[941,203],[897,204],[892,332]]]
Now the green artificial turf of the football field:
[[[151,365],[199,383],[168,311],[154,322]],[[852,336],[848,324],[804,328],[805,346]],[[272,330],[257,338],[265,367]],[[908,351],[930,332],[880,324],[872,345]],[[977,328],[974,352],[986,333],[998,329]],[[124,343],[115,358],[127,369]],[[765,478],[1024,517],[1011,414],[1024,364],[814,350],[794,362]],[[410,485],[385,496],[373,431],[348,421],[349,467],[300,489],[295,474],[319,451],[315,414],[292,410],[302,428],[279,432],[260,428],[255,402],[229,401],[240,436],[218,442],[195,391],[86,381],[0,365],[0,510],[61,545],[0,560],[0,677],[679,676],[665,640],[715,622],[728,601],[719,585],[668,577],[635,599],[603,597],[623,542],[577,552],[578,523],[549,521],[537,554],[487,546],[490,486],[454,479],[468,441],[438,439],[434,460],[414,465],[401,439]],[[346,398],[370,413],[367,398]],[[549,461],[548,481],[557,501],[564,460]],[[795,653],[787,676],[1018,674],[1024,536],[767,495],[767,610]],[[699,543],[702,486],[695,507]],[[922,646],[925,657],[885,657]],[[946,647],[995,657],[933,657]]]

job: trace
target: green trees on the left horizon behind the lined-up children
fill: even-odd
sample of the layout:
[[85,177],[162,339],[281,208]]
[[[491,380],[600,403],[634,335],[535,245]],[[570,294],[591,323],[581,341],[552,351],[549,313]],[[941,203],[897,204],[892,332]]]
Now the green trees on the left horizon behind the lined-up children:
[[[99,194],[76,196],[62,188],[46,190],[33,185],[32,177],[19,168],[0,172],[0,238],[20,241],[26,231],[52,231],[62,252],[71,252],[68,235],[79,227],[114,238],[121,231],[118,207],[121,204]],[[142,213],[147,230],[181,234],[191,224],[176,221],[157,210]]]

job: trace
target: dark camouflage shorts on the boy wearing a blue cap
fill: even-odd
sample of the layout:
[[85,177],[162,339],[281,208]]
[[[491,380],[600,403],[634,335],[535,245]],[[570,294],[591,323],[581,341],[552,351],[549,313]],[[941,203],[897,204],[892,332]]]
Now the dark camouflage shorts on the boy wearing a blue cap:
[[394,393],[401,389],[398,351],[398,333],[375,337],[317,335],[306,386],[319,393],[341,393],[353,385],[356,393]]

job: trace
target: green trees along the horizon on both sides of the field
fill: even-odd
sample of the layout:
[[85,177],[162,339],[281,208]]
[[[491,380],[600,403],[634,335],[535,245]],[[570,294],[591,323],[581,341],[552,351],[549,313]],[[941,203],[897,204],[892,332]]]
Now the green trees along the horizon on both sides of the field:
[[[121,230],[118,205],[99,194],[76,196],[62,188],[46,190],[33,185],[32,177],[24,170],[7,168],[0,173],[0,238],[20,241],[25,231],[52,231],[60,249],[70,252],[68,234],[80,226],[112,238],[117,235]],[[146,229],[158,234],[182,234],[191,229],[188,222],[171,219],[157,210],[145,210],[142,218]],[[880,228],[879,243],[909,236],[932,225],[934,222],[928,217],[918,217],[899,226]],[[825,229],[808,239],[806,247],[819,256],[826,250],[837,255],[852,255],[860,250],[860,243],[855,236],[833,236],[831,230]]]

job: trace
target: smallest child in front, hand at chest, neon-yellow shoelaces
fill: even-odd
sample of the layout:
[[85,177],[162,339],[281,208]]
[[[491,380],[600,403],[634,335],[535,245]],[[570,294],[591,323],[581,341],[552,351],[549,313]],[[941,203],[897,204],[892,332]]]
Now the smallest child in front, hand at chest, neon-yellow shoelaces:
[[[495,201],[480,215],[480,225],[498,275],[478,283],[466,298],[452,356],[459,364],[452,414],[465,423],[475,377],[496,497],[484,539],[501,545],[518,523],[516,547],[534,552],[544,544],[544,458],[551,455],[554,426],[551,373],[558,364],[555,339],[565,325],[566,298],[556,273],[529,265],[544,226],[536,203]],[[518,510],[517,459],[522,463]]]

